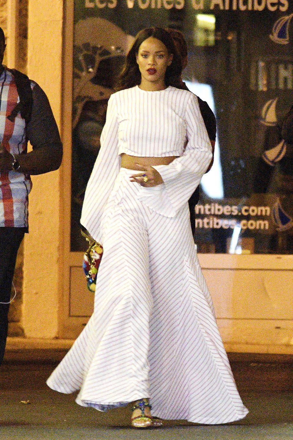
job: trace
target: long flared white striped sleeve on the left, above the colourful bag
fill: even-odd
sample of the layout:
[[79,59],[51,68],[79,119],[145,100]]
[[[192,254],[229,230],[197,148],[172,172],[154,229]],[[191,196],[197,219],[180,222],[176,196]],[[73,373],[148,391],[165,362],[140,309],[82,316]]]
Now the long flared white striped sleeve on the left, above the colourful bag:
[[115,94],[108,101],[106,122],[101,132],[101,148],[87,183],[80,223],[101,242],[101,217],[120,169],[118,117]]

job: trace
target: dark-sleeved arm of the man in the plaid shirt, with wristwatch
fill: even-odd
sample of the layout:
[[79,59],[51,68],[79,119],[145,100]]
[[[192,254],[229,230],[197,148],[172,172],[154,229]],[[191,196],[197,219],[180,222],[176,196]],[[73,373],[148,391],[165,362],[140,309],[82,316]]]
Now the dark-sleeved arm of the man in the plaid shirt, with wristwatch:
[[[46,94],[38,84],[33,88],[33,108],[26,126],[26,137],[33,146],[28,154],[16,155],[18,172],[43,174],[59,168],[62,160],[62,143]],[[13,157],[0,147],[0,171],[12,170]]]

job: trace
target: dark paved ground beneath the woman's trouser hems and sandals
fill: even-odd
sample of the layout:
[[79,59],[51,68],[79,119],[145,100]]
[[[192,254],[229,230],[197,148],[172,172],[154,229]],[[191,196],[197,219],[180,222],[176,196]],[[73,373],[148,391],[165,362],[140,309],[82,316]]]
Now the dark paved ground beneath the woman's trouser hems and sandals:
[[[163,429],[141,431],[128,427],[128,408],[104,414],[76,405],[73,395],[47,388],[53,362],[9,361],[0,369],[0,440],[293,440],[293,390],[288,383],[292,364],[271,369],[262,365],[262,372],[256,373],[263,378],[258,386],[259,380],[254,381],[242,363],[232,363],[250,409],[245,420],[212,426],[167,421]],[[268,386],[270,381],[275,385]]]

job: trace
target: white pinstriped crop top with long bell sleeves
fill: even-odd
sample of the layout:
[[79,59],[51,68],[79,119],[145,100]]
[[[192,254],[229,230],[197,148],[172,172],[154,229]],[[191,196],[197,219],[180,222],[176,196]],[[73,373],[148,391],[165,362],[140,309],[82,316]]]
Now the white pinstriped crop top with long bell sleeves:
[[138,86],[111,95],[100,153],[81,214],[81,224],[98,242],[101,216],[119,173],[122,152],[133,156],[181,156],[170,165],[154,166],[164,181],[162,198],[143,187],[139,194],[141,201],[157,213],[175,216],[199,185],[212,158],[197,97],[174,87],[146,92]]

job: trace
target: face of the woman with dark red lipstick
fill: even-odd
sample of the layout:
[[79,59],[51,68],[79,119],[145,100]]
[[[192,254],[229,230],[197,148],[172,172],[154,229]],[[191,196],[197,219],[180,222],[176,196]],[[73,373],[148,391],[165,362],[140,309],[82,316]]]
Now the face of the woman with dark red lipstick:
[[165,73],[173,59],[173,54],[168,53],[168,49],[162,41],[154,37],[148,37],[141,43],[136,55],[136,61],[141,72],[141,84],[146,86],[165,85]]

